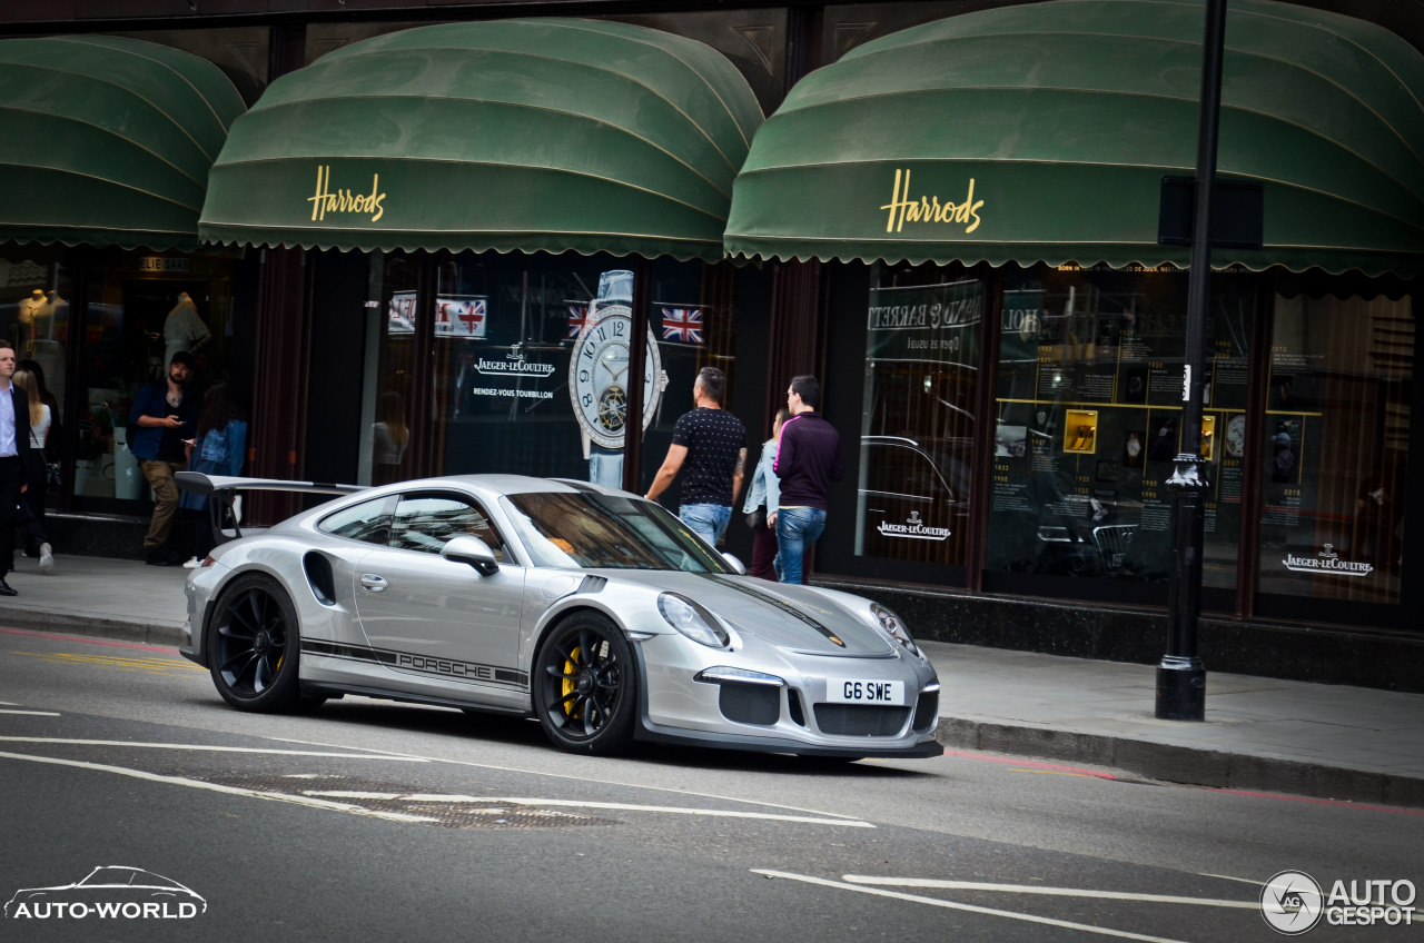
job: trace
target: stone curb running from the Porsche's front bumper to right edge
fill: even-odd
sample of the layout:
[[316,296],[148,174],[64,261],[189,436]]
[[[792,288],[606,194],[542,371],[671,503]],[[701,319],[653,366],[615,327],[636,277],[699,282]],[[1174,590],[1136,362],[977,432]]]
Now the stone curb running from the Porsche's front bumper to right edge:
[[953,749],[1091,764],[1188,786],[1424,808],[1424,779],[1417,776],[964,718],[940,718],[934,738]]

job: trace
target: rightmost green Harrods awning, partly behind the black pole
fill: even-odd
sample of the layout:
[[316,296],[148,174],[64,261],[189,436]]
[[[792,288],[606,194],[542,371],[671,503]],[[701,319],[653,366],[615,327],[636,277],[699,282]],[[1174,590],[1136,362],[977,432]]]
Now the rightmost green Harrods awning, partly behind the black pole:
[[[1196,165],[1205,4],[1054,0],[867,43],[756,134],[726,249],[778,259],[1141,264],[1163,175]],[[1380,27],[1232,0],[1218,167],[1259,181],[1265,245],[1216,266],[1413,275],[1424,57]]]

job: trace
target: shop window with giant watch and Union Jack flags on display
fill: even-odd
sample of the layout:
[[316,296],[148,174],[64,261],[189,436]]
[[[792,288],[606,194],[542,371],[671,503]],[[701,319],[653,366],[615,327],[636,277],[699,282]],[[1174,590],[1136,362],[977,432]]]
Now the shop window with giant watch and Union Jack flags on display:
[[416,473],[409,426],[424,407],[412,403],[410,385],[422,332],[431,352],[430,440],[416,447],[429,449],[434,474],[503,472],[621,487],[629,399],[642,396],[644,464],[655,469],[678,405],[691,409],[696,370],[716,363],[732,373],[731,276],[721,266],[648,266],[648,353],[635,392],[627,259],[464,254],[434,265],[429,302],[417,298],[417,262],[373,262],[383,276],[370,296],[382,299],[384,318],[366,454],[377,483]]

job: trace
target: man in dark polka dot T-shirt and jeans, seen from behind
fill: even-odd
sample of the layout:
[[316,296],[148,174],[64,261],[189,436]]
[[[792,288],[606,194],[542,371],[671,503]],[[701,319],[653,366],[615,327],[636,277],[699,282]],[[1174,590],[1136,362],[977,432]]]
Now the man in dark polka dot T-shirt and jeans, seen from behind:
[[713,547],[732,520],[736,494],[746,474],[746,429],[722,409],[726,373],[705,366],[692,383],[695,409],[684,413],[672,429],[668,457],[652,479],[649,501],[668,490],[682,472],[682,504],[678,517]]

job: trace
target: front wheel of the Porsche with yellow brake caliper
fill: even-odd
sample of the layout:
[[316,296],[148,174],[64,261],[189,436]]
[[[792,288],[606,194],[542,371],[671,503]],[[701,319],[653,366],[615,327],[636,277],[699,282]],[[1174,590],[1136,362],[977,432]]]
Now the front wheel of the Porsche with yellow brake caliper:
[[598,613],[555,625],[534,658],[534,712],[560,749],[608,755],[632,741],[638,671],[622,630]]

